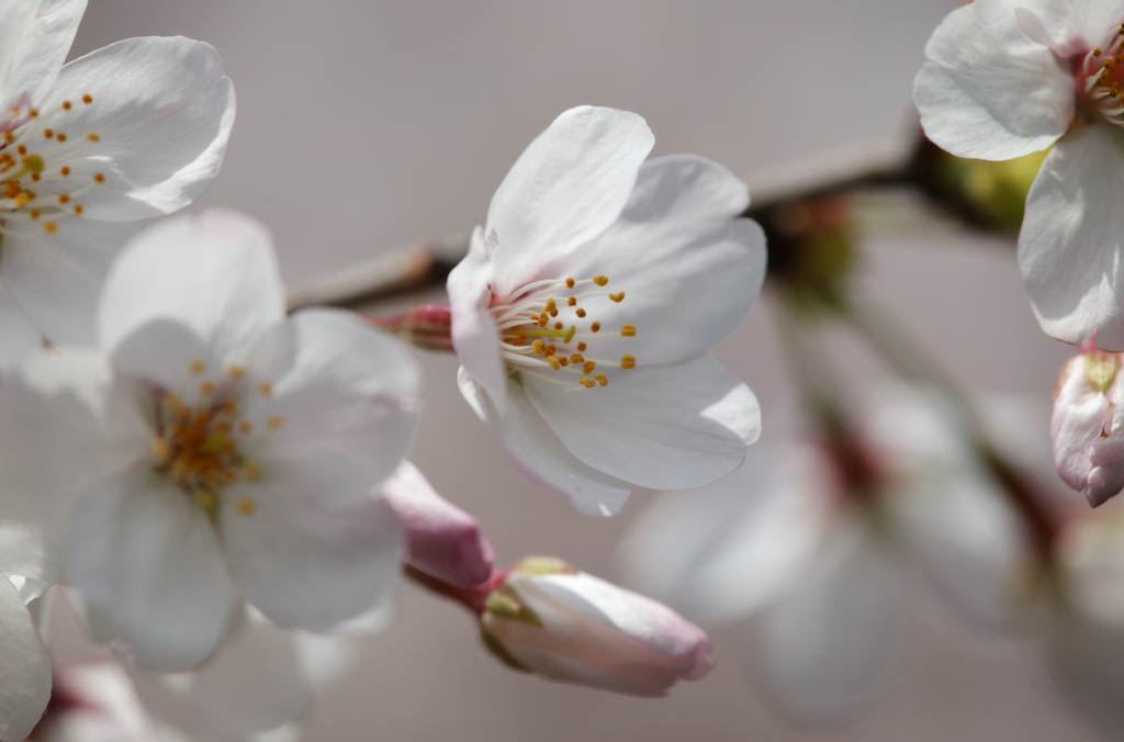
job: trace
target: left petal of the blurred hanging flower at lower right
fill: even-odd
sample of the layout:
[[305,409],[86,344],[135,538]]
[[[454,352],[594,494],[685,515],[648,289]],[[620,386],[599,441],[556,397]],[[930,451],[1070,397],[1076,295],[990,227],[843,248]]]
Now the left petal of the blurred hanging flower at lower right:
[[660,496],[622,544],[628,583],[704,622],[761,609],[819,546],[834,476],[815,447],[758,445],[729,477]]

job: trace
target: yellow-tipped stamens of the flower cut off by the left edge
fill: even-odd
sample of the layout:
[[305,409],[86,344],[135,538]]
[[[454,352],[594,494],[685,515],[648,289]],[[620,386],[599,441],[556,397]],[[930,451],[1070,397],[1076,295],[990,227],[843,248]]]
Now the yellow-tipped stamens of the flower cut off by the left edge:
[[[65,115],[92,103],[87,93],[76,101],[64,100],[61,107]],[[39,110],[26,97],[0,114],[0,236],[28,229],[55,232],[60,218],[82,215],[83,194],[106,182],[100,171],[79,173],[78,165],[66,164],[100,142],[98,134],[72,136],[42,126],[39,119]]]

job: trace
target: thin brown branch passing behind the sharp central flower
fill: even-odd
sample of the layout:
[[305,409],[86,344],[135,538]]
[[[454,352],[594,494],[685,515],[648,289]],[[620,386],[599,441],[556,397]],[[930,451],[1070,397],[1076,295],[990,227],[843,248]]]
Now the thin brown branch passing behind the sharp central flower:
[[[745,216],[759,218],[776,207],[826,193],[909,181],[916,138],[833,150],[806,160],[751,173],[753,202]],[[468,233],[392,248],[370,261],[326,275],[293,291],[289,310],[308,306],[359,308],[442,286],[468,251]]]

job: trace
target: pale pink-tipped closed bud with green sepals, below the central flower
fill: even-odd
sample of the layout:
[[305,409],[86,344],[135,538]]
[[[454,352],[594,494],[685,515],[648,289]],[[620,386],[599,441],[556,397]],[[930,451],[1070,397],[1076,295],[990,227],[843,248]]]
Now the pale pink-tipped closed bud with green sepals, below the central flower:
[[706,633],[667,606],[549,558],[520,562],[488,597],[486,644],[554,680],[662,696],[714,662]]

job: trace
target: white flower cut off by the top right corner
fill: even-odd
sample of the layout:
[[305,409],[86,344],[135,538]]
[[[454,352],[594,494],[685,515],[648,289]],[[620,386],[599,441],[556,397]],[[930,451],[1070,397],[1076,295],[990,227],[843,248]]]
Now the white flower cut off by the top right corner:
[[1026,200],[1018,261],[1042,329],[1124,350],[1124,2],[977,0],[925,47],[922,126],[961,157],[1053,145]]

